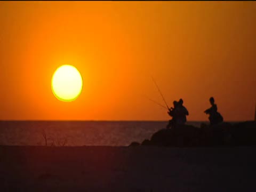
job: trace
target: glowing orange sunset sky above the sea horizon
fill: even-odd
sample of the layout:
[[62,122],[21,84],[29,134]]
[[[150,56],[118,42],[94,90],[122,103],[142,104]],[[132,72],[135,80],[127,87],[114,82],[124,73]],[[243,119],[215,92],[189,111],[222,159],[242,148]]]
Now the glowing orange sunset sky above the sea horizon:
[[[188,121],[213,96],[226,121],[254,118],[256,2],[1,2],[0,119],[167,120],[153,75]],[[51,91],[60,65],[84,89]]]

